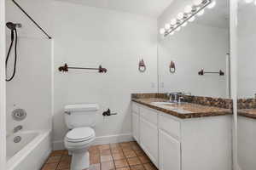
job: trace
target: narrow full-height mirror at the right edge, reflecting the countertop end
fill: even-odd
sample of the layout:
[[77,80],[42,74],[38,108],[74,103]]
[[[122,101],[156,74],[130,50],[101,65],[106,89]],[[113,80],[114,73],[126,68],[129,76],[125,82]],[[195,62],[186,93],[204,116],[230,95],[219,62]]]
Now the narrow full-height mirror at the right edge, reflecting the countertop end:
[[237,95],[238,165],[241,170],[256,167],[256,3],[238,1]]

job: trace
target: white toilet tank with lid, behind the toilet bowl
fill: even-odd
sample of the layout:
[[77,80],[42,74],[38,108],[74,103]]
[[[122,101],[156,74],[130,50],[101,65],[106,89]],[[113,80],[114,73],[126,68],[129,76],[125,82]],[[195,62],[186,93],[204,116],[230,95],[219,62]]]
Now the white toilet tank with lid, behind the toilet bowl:
[[64,108],[65,122],[69,129],[75,127],[95,127],[97,104],[66,105]]

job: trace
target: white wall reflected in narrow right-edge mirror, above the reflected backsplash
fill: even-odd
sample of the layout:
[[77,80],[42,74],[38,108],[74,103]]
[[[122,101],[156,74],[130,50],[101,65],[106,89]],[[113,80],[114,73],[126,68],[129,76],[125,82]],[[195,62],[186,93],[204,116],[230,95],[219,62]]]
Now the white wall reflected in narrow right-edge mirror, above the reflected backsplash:
[[238,98],[254,98],[256,94],[256,17],[253,4],[241,3],[238,11]]

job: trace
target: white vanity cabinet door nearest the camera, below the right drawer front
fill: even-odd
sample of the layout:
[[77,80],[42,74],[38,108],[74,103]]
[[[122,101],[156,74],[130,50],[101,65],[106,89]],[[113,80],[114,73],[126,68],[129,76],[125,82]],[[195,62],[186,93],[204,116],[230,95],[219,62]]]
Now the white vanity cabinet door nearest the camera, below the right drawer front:
[[168,133],[159,130],[159,169],[180,170],[180,142]]

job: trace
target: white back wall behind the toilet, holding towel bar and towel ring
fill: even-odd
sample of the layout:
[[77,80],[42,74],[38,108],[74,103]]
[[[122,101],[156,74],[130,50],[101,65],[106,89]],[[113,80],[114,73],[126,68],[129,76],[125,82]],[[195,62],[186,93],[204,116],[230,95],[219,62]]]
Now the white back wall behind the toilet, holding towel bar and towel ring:
[[[52,4],[55,16],[55,149],[63,147],[67,133],[63,108],[73,103],[95,102],[101,106],[96,136],[108,138],[97,141],[130,139],[131,94],[157,92],[156,20],[72,3]],[[147,65],[145,73],[137,70],[140,58]],[[108,73],[57,71],[64,63],[81,67],[102,65]],[[108,108],[119,114],[103,118],[102,111]],[[120,138],[110,138],[110,135]]]

